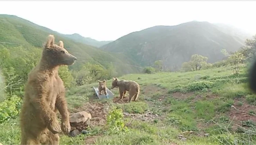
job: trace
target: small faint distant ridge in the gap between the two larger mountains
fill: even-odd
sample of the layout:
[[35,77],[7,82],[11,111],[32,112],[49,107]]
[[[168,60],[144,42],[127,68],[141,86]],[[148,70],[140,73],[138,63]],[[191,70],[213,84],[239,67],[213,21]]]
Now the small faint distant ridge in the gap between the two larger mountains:
[[72,35],[62,34],[62,36],[70,38],[70,39],[72,39],[76,42],[84,43],[84,44],[95,46],[95,47],[101,47],[103,45],[106,45],[106,44],[112,42],[112,41],[97,41],[97,40],[92,39],[92,38],[85,38],[85,37],[83,37],[83,36],[81,36],[77,33],[74,33]]

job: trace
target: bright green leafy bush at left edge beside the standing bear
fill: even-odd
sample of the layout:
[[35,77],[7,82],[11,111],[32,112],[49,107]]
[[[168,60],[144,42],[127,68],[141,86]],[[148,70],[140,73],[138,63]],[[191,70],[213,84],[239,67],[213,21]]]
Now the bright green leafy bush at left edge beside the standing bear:
[[22,100],[17,96],[10,97],[0,103],[0,123],[16,118],[21,108]]

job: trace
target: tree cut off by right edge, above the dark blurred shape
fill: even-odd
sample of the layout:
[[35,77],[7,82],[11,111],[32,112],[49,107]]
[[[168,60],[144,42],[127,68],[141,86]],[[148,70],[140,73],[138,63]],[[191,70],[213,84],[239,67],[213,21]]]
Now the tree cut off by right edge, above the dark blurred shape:
[[252,39],[246,39],[245,46],[240,48],[240,52],[246,58],[256,58],[256,35],[254,35]]

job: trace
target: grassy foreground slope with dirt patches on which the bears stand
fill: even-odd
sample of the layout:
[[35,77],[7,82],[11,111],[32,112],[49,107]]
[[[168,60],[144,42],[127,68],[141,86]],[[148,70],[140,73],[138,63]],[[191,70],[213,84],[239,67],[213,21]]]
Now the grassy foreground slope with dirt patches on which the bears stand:
[[[70,112],[85,110],[93,119],[89,134],[74,138],[61,135],[61,145],[256,144],[256,96],[247,89],[246,68],[239,76],[226,67],[121,78],[140,84],[137,102],[125,103],[128,97],[124,102],[117,98],[97,100],[92,89],[97,84],[67,92]],[[111,80],[107,85],[110,88]],[[118,97],[118,89],[112,91]],[[106,126],[106,115],[113,106],[124,112],[126,133],[110,133]],[[19,135],[17,119],[1,124],[2,144],[19,144]]]

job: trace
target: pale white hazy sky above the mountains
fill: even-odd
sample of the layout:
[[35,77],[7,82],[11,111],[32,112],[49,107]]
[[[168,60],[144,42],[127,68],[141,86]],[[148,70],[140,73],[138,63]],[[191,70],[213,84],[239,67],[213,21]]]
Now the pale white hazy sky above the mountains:
[[221,22],[256,33],[256,1],[0,1],[12,14],[64,34],[116,40],[156,25],[192,20]]

